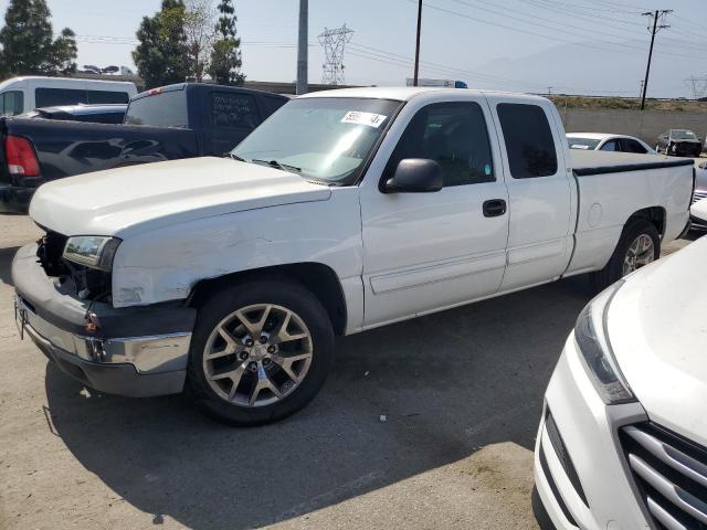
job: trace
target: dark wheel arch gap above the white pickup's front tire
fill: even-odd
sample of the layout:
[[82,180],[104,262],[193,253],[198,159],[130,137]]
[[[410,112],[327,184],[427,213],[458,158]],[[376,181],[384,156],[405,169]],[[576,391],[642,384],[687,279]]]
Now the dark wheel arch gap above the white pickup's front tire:
[[273,265],[201,279],[191,288],[187,304],[190,307],[199,307],[211,294],[223,287],[257,279],[282,279],[302,284],[326,309],[335,335],[345,333],[348,311],[341,282],[331,267],[317,262]]

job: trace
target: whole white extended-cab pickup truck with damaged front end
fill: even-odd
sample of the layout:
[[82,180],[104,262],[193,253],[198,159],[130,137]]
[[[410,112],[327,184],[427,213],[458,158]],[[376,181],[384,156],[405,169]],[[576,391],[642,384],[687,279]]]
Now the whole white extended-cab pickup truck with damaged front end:
[[570,153],[541,97],[309,94],[230,158],[41,187],[17,318],[89,388],[189,389],[223,421],[264,423],[314,398],[337,335],[650,263],[686,229],[693,181],[689,159]]

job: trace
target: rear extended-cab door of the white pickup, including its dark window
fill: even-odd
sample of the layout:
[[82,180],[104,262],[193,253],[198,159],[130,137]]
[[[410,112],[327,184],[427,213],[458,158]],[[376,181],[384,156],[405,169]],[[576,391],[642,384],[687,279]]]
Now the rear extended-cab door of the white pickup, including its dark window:
[[500,290],[559,277],[572,250],[572,190],[551,103],[489,96],[504,146],[508,187],[508,264]]

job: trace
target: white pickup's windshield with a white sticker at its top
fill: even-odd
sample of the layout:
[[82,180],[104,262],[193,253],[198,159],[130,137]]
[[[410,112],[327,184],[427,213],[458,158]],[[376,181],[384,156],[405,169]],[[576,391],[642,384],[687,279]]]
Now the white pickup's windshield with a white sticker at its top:
[[305,179],[349,184],[401,105],[350,97],[293,99],[231,155],[294,170]]

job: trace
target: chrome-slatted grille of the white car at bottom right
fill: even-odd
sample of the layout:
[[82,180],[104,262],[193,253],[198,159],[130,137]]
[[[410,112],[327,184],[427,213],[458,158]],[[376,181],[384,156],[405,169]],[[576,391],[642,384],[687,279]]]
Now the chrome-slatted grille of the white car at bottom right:
[[707,530],[707,448],[654,423],[623,427],[620,439],[654,526]]

